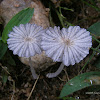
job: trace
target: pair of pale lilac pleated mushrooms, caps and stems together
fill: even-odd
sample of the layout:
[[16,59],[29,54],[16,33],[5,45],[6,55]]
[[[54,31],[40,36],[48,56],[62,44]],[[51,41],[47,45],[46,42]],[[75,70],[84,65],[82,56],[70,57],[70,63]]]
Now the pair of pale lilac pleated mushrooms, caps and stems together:
[[63,70],[64,65],[74,65],[83,60],[89,54],[92,46],[90,32],[79,26],[69,28],[49,27],[43,29],[36,24],[20,24],[9,33],[7,40],[8,48],[19,57],[29,58],[31,72],[37,79],[31,57],[45,51],[46,55],[54,62],[62,62],[55,73],[48,73],[48,78],[56,77]]

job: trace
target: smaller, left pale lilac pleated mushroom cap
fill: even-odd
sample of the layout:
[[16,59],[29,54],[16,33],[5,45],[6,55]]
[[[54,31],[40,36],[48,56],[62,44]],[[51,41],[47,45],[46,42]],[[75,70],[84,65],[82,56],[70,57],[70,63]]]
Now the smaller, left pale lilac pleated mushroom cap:
[[13,31],[8,34],[8,48],[14,55],[19,57],[31,57],[41,53],[40,42],[41,34],[44,30],[36,24],[20,24],[15,26]]

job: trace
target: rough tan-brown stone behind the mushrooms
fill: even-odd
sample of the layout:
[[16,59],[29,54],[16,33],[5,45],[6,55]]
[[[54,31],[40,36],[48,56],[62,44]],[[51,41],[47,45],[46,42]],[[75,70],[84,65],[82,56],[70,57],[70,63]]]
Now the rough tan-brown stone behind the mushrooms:
[[[48,18],[49,9],[45,8],[39,0],[3,0],[0,3],[0,15],[4,19],[5,25],[15,14],[27,7],[34,8],[34,14],[30,23],[35,23],[43,28],[50,26]],[[29,65],[28,58],[20,57],[19,59],[25,65]],[[42,71],[54,64],[52,59],[47,57],[44,52],[40,55],[37,54],[36,56],[31,57],[31,59],[32,64],[37,71]]]

